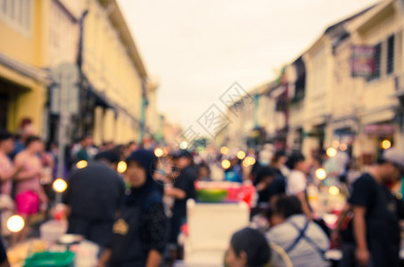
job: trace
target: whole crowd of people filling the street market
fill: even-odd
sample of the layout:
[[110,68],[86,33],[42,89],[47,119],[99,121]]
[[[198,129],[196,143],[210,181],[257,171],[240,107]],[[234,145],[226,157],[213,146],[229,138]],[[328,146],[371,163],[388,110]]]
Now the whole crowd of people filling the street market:
[[[12,235],[11,246],[27,239],[29,222],[48,212],[54,200],[49,184],[56,178],[58,148],[51,145],[46,151],[33,134],[31,125],[18,139],[0,132],[2,235],[7,214],[20,214],[27,222]],[[172,266],[181,259],[178,235],[186,223],[186,201],[196,198],[196,181],[251,183],[257,192],[251,221],[260,216],[267,224],[233,235],[225,259],[229,267],[329,266],[330,247],[342,251],[334,265],[400,266],[404,202],[393,192],[404,174],[404,155],[398,150],[384,150],[359,175],[357,170],[350,173],[350,159],[342,151],[332,158],[320,153],[309,164],[299,151],[248,150],[238,157],[218,151],[154,149],[136,142],[108,142],[96,148],[88,135],[66,153],[62,178],[68,187],[62,202],[68,232],[100,247],[99,267]],[[243,158],[253,160],[245,164]],[[86,165],[78,166],[83,161]],[[122,161],[126,169],[119,171]],[[320,167],[326,179],[318,179]],[[352,174],[357,177],[352,179]],[[309,185],[346,189],[348,201],[334,227],[310,206]]]

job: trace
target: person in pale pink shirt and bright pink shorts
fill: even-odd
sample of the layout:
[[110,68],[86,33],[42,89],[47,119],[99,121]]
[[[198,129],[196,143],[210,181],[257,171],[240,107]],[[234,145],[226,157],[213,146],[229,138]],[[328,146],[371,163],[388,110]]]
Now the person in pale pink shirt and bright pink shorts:
[[[44,150],[44,143],[37,136],[29,136],[26,146],[27,148],[18,153],[14,159],[16,169],[14,181],[17,213],[29,222],[30,217],[37,214],[40,207],[47,204],[48,199],[40,184],[43,167],[38,155]],[[28,233],[29,227],[25,227],[16,235],[14,241],[25,240]]]

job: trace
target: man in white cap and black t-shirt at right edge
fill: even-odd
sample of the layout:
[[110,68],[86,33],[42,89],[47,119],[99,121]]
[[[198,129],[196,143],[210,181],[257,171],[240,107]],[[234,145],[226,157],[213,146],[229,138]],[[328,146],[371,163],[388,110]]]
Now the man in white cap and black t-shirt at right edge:
[[359,266],[399,266],[399,201],[389,184],[400,179],[403,169],[404,155],[394,149],[385,150],[382,158],[353,184],[349,203]]

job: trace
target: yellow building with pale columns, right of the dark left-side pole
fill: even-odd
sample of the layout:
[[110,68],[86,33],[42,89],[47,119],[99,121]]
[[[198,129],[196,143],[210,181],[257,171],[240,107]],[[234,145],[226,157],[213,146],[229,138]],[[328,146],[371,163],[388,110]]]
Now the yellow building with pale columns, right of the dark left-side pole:
[[96,144],[140,141],[144,63],[115,0],[89,0],[85,8],[82,69],[99,100],[86,132]]

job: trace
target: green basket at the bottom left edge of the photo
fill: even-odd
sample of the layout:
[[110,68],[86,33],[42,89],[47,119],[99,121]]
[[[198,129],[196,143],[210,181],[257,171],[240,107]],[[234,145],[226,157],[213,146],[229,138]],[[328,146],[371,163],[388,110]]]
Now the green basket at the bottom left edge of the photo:
[[72,267],[75,254],[65,252],[41,252],[25,260],[24,267]]

